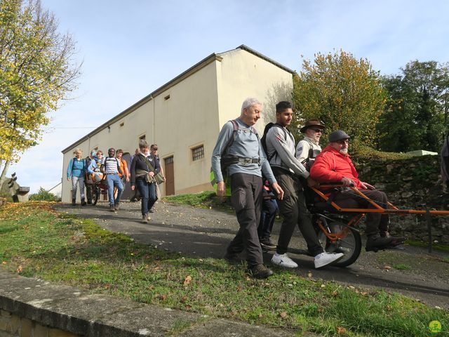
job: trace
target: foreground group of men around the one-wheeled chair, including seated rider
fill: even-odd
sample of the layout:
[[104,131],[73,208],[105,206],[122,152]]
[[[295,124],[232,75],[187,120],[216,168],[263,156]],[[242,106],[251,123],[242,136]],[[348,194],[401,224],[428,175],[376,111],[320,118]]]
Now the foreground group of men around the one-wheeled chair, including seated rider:
[[[229,263],[240,261],[239,254],[244,251],[253,277],[266,278],[273,272],[263,264],[262,247],[276,247],[272,263],[295,268],[298,265],[287,251],[298,225],[309,253],[314,256],[316,268],[337,262],[343,253],[327,253],[321,246],[307,209],[304,188],[321,190],[320,184],[339,183],[342,186],[339,192],[321,192],[333,194],[331,198],[335,204],[348,208],[374,209],[375,206],[344,187],[357,187],[368,198],[382,205],[387,204],[387,195],[358,179],[348,154],[351,137],[344,131],[331,132],[328,146],[321,150],[319,140],[325,125],[318,119],[311,119],[300,129],[304,140],[295,146],[295,138],[287,128],[293,119],[293,108],[289,102],[276,104],[276,123],[267,124],[262,138],[253,127],[261,113],[259,100],[244,100],[240,116],[222,127],[213,150],[212,169],[217,195],[225,195],[225,178],[229,177],[231,202],[240,225],[239,232],[227,247],[225,259]],[[271,191],[267,192],[267,188]],[[283,218],[276,246],[269,240],[272,223],[265,223],[267,219],[274,220],[272,214],[276,213],[276,204],[267,202],[270,199],[267,193],[276,196]],[[391,248],[404,241],[403,237],[389,234],[389,216],[380,213],[367,214],[366,236],[367,251]]]

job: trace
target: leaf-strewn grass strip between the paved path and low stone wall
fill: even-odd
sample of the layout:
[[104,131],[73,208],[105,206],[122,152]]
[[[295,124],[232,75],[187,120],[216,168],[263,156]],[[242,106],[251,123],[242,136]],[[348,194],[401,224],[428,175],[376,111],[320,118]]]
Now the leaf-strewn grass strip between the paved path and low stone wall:
[[[0,208],[0,261],[27,277],[298,334],[430,336],[433,320],[441,322],[441,333],[449,327],[448,310],[398,294],[304,279],[280,269],[267,280],[251,279],[243,265],[137,244],[92,220],[60,215],[46,202]],[[184,329],[181,323],[175,330]]]

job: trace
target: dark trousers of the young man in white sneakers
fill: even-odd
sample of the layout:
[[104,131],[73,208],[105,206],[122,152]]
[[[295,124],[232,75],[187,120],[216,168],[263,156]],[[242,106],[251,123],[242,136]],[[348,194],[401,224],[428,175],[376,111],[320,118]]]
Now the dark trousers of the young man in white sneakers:
[[300,228],[301,234],[307,243],[307,249],[309,249],[312,256],[323,253],[324,249],[321,247],[314,226],[311,223],[311,214],[305,203],[300,178],[283,169],[272,167],[272,170],[284,192],[283,200],[278,200],[279,213],[283,216],[283,222],[279,232],[276,253],[283,254],[287,252],[288,244],[290,244],[296,225]]

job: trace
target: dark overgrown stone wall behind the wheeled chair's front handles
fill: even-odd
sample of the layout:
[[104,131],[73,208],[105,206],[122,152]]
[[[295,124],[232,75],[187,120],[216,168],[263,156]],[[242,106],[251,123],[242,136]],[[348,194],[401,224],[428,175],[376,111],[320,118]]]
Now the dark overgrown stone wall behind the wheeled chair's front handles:
[[[376,159],[354,164],[360,178],[387,192],[389,201],[399,209],[449,211],[449,193],[444,190],[438,156],[410,157],[408,159]],[[427,242],[425,216],[391,216],[390,232],[405,235],[407,239]],[[432,216],[434,242],[449,244],[449,215]]]

